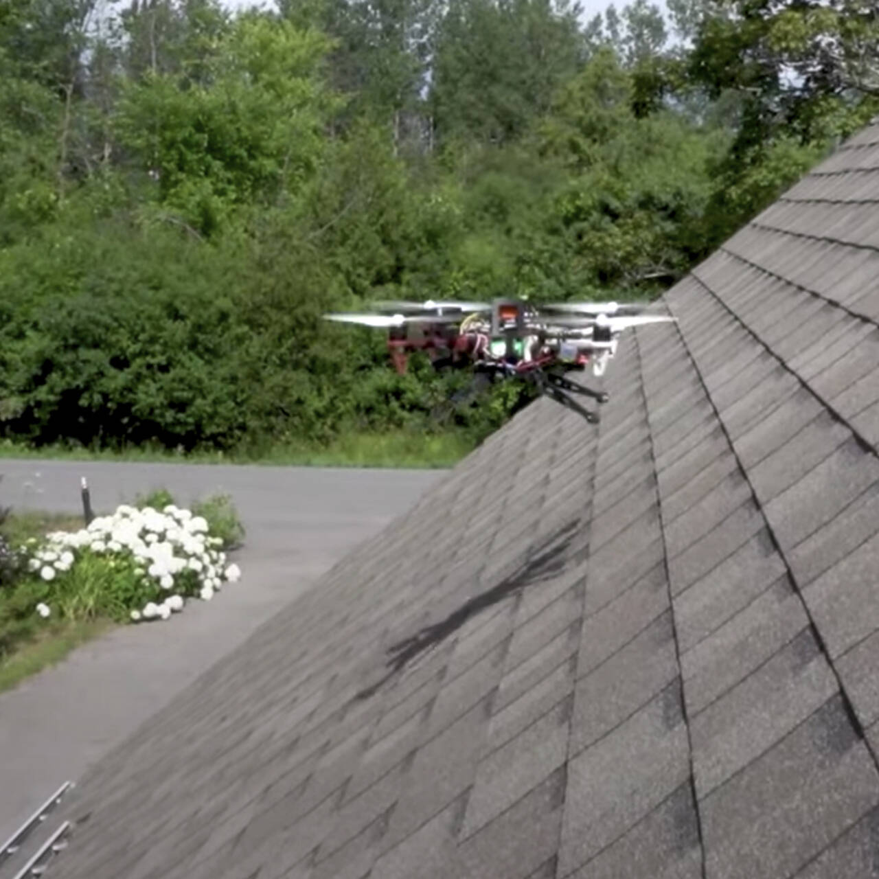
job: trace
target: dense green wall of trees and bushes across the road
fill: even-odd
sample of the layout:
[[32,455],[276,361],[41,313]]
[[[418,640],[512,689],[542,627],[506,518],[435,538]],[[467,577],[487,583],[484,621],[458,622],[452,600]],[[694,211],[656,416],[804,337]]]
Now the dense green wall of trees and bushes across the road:
[[879,108],[868,0],[278,7],[0,4],[0,438],[478,438],[321,313],[654,294]]

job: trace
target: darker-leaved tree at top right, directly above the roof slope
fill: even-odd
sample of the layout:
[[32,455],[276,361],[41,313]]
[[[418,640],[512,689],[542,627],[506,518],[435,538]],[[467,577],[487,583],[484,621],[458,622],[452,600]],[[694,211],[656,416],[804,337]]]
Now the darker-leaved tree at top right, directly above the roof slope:
[[879,109],[879,12],[864,0],[723,0],[708,13],[686,72],[708,98],[737,104],[708,212],[719,241]]

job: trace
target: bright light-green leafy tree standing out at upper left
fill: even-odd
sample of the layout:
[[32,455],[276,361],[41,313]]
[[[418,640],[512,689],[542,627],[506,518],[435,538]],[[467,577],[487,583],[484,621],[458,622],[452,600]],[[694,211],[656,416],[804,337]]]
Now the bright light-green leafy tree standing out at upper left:
[[319,70],[321,33],[289,22],[239,18],[207,84],[185,72],[127,84],[117,129],[159,203],[199,235],[213,233],[236,204],[277,202],[316,169],[333,108]]

